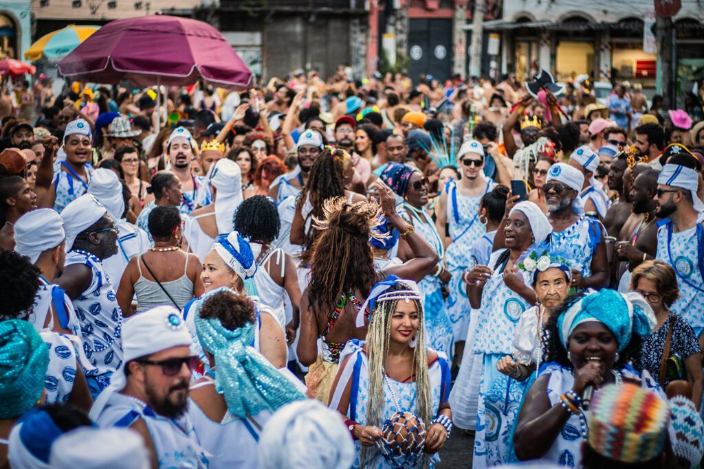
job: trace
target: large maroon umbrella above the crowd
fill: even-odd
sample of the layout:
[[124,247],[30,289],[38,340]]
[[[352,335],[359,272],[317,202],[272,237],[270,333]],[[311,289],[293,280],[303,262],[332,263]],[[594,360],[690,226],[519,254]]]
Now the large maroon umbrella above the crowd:
[[111,21],[58,63],[64,77],[139,86],[187,86],[200,77],[244,89],[253,80],[241,58],[214,27],[189,18],[151,15]]

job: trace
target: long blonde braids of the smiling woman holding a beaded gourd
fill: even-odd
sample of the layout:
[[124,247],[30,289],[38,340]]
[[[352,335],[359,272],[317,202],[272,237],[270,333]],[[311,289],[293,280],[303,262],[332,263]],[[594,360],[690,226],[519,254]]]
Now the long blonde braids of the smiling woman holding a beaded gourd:
[[[410,290],[403,282],[398,282],[384,293]],[[403,300],[377,301],[372,310],[372,317],[367,330],[367,357],[369,359],[369,405],[367,406],[367,425],[382,428],[384,425],[384,363],[389,354],[389,341],[391,338],[391,316],[396,311],[396,305]],[[416,347],[413,349],[413,372],[415,373],[416,404],[415,409],[408,409],[415,413],[425,425],[431,420],[430,416],[430,380],[428,377],[428,359],[425,349],[425,327],[423,325],[423,305],[419,300],[408,300],[415,303],[418,311],[418,332],[415,335]],[[399,409],[400,411],[400,409]],[[371,458],[370,458],[371,460]],[[367,462],[367,447],[362,446],[362,467]]]

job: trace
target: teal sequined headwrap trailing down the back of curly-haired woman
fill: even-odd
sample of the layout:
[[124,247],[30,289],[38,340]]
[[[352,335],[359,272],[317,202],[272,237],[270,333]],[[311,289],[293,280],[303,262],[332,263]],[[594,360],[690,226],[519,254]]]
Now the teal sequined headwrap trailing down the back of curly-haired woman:
[[254,324],[236,330],[222,326],[220,319],[201,319],[200,308],[212,295],[232,292],[218,288],[203,295],[194,313],[196,333],[206,352],[215,356],[215,390],[224,394],[227,409],[237,418],[275,411],[293,401],[306,399],[298,388],[250,346]]

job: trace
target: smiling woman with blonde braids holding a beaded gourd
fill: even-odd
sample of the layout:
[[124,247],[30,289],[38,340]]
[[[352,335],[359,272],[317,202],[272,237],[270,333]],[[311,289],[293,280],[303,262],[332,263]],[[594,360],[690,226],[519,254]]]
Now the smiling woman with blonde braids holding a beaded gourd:
[[452,430],[451,376],[444,357],[423,345],[417,284],[389,276],[367,302],[367,340],[346,345],[329,404],[356,440],[353,468],[433,467]]

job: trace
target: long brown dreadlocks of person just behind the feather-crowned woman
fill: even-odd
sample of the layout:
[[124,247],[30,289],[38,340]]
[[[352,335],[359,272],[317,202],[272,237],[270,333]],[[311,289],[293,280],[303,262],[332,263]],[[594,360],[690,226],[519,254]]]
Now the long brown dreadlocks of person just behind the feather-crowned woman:
[[[345,195],[345,170],[352,165],[352,157],[345,150],[339,148],[326,148],[318,159],[313,163],[308,173],[308,182],[301,192],[301,197],[296,202],[296,210],[303,213],[303,206],[306,201],[310,203],[313,210],[306,215],[306,224],[311,217],[322,218],[322,205],[332,197],[344,197]],[[318,233],[311,227],[306,236],[306,252],[303,254],[303,262],[310,260],[310,248],[318,238]]]

